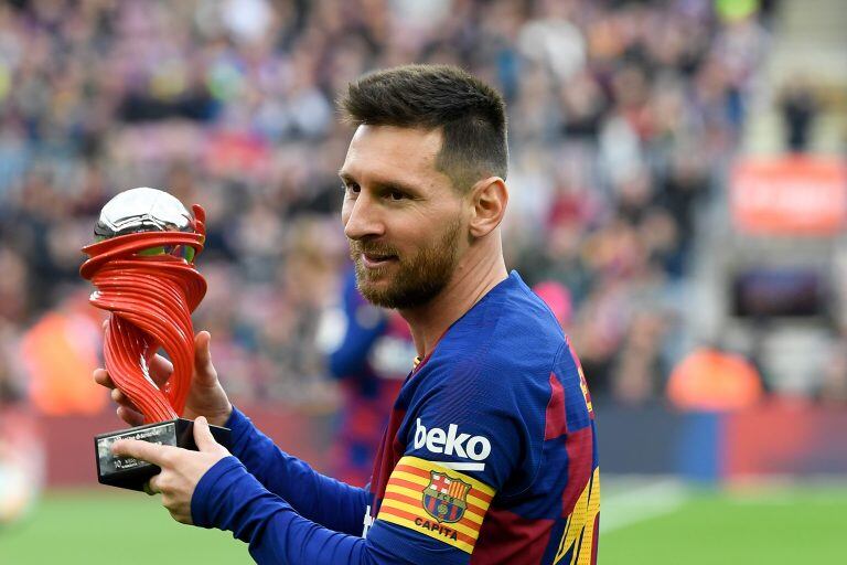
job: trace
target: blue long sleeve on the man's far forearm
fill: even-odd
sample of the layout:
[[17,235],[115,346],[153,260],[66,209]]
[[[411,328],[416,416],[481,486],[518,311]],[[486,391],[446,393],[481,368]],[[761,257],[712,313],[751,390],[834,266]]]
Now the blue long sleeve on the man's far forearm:
[[226,426],[233,433],[233,455],[268,491],[308,520],[336,532],[362,534],[367,491],[325,477],[280,450],[237,408]]

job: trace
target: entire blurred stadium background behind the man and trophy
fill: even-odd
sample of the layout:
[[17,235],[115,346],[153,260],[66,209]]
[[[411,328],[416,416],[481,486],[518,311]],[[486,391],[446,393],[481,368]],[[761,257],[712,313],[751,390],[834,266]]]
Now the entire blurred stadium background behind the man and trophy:
[[0,2],[0,563],[249,561],[94,484],[122,425],[79,248],[128,188],[206,207],[195,326],[233,401],[329,468],[333,98],[407,62],[507,99],[507,263],[565,290],[601,563],[843,563],[845,29],[839,0]]

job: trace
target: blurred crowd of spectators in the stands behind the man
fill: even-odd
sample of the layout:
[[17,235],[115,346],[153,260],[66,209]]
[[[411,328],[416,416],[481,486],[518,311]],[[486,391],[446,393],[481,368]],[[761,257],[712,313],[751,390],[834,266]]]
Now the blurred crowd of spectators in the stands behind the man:
[[[346,260],[336,170],[352,134],[333,100],[364,72],[426,62],[504,94],[507,265],[567,290],[562,322],[596,397],[647,402],[684,352],[698,212],[737,149],[766,50],[754,7],[2,2],[0,382],[26,387],[25,351],[43,350],[21,343],[90,291],[79,249],[100,207],[147,185],[206,209],[195,326],[212,332],[230,394],[332,405],[324,353],[336,337],[322,321]],[[69,348],[96,334],[96,312],[68,316]]]

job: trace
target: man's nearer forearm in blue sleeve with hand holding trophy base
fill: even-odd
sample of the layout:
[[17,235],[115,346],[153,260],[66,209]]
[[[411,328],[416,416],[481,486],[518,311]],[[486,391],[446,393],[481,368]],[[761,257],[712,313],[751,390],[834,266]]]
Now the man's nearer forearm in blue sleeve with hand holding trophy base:
[[232,531],[249,544],[257,563],[408,563],[403,547],[383,551],[363,537],[334,532],[299,515],[214,440],[205,418],[195,420],[194,439],[199,451],[139,440],[116,441],[112,450],[162,469],[148,490],[161,493],[162,504],[174,520]]

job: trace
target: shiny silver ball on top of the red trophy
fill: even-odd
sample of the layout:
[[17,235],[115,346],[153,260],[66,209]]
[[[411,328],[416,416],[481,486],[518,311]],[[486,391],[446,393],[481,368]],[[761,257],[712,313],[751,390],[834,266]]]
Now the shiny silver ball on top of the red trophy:
[[94,226],[98,241],[137,232],[191,232],[192,216],[175,196],[147,186],[112,198]]

